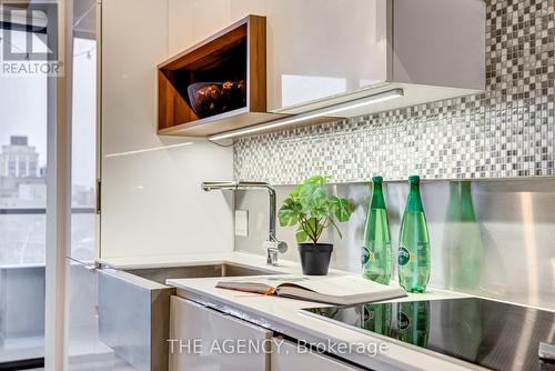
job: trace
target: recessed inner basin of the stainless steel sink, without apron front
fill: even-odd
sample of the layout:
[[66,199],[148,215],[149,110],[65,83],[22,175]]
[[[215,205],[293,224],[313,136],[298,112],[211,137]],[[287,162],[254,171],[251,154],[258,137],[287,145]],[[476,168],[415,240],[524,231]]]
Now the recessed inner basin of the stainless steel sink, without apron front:
[[279,272],[272,270],[230,263],[191,267],[127,269],[124,271],[161,284],[165,284],[167,280],[184,278],[279,274]]

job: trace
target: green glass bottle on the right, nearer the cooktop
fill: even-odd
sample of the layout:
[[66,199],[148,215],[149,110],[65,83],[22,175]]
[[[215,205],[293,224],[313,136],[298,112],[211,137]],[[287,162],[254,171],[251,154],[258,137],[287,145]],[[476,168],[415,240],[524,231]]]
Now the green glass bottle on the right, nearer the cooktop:
[[430,281],[430,234],[420,195],[420,177],[408,177],[411,191],[398,238],[398,282],[407,292],[424,292]]

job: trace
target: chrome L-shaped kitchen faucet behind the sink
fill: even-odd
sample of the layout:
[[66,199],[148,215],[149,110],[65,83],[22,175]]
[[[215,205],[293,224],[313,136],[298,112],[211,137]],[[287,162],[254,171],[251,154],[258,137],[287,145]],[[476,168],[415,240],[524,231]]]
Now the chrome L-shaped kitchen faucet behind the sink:
[[266,249],[266,263],[270,265],[278,265],[278,253],[284,253],[287,251],[287,244],[283,241],[279,241],[275,237],[275,190],[265,182],[202,182],[202,189],[210,192],[215,189],[220,190],[249,190],[249,189],[265,189],[270,195],[270,228],[268,231],[268,240],[263,242],[263,247]]

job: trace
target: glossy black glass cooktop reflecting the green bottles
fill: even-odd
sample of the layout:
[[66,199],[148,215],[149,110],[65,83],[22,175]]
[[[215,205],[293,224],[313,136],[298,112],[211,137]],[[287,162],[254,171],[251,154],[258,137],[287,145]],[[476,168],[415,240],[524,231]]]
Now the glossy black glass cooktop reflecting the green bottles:
[[477,298],[304,309],[359,331],[493,370],[555,370],[538,358],[555,344],[555,313]]

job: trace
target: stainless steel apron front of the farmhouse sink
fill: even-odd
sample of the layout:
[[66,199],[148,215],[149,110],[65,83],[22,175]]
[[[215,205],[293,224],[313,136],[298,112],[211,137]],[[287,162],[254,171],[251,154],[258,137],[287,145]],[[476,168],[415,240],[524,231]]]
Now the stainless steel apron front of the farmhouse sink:
[[139,370],[168,370],[174,289],[112,269],[99,270],[98,289],[100,340]]

